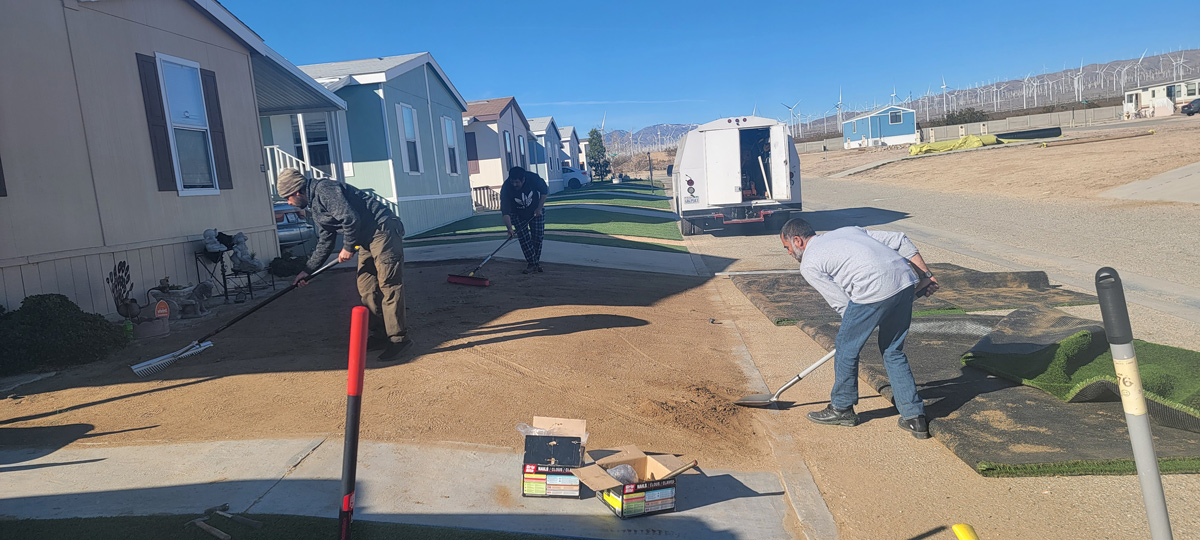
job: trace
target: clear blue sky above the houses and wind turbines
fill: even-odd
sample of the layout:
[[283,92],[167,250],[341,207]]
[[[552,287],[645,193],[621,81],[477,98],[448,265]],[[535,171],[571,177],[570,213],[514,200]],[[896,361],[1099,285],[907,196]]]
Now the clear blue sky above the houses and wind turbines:
[[[430,52],[467,100],[599,126],[787,118],[1200,48],[1194,2],[223,0],[296,65]],[[1133,4],[1145,10],[1146,4]],[[852,6],[852,7],[847,7]],[[1152,19],[1153,22],[1148,22]]]

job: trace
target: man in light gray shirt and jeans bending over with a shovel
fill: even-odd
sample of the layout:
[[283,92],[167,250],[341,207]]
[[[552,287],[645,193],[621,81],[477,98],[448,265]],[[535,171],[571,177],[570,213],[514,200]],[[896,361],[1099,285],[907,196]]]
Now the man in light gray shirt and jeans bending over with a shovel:
[[[858,355],[876,328],[880,353],[900,410],[900,427],[919,439],[929,437],[925,407],[904,354],[916,292],[937,292],[937,281],[904,233],[842,227],[817,235],[809,222],[784,224],[780,240],[800,263],[800,274],[841,314],[835,340],[834,383],[829,406],[809,413],[817,424],[858,424]],[[920,272],[920,276],[917,275]]]

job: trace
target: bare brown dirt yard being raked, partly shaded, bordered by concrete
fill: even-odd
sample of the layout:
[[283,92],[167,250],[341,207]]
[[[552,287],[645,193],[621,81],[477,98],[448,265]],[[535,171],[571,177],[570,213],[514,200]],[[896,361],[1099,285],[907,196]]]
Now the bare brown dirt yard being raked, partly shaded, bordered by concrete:
[[[488,265],[487,288],[445,282],[466,262],[410,264],[407,362],[368,353],[361,436],[518,450],[534,415],[588,421],[588,448],[637,444],[715,468],[769,454],[728,361],[733,335],[695,277],[517,263]],[[281,298],[150,379],[128,370],[222,320],[138,343],[101,365],[0,401],[5,445],[131,445],[340,436],[346,418],[354,275],[337,271]],[[241,306],[244,308],[244,306]],[[229,311],[226,310],[228,313]],[[83,434],[86,433],[86,434]],[[82,434],[82,437],[80,437]]]

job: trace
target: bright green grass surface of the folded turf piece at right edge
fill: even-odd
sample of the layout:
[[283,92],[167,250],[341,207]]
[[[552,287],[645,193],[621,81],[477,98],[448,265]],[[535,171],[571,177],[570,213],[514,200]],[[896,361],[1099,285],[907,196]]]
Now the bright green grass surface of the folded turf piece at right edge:
[[[1146,398],[1200,418],[1200,353],[1134,340]],[[1032,354],[974,354],[962,364],[1069,401],[1098,380],[1117,384],[1109,344],[1081,331]]]

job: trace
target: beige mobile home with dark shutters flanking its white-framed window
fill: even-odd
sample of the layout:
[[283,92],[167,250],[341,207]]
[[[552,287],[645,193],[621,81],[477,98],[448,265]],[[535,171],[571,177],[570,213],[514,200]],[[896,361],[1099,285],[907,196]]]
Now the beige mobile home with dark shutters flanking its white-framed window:
[[112,313],[121,260],[139,300],[163,277],[196,283],[210,228],[270,262],[258,118],[344,107],[216,1],[8,1],[0,72],[10,310],[60,293]]

